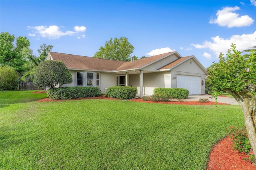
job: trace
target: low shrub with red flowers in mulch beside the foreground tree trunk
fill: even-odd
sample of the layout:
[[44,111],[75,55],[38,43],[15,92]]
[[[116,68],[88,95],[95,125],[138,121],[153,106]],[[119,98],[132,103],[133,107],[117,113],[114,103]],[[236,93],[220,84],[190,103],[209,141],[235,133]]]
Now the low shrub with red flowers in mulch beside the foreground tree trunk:
[[234,143],[233,149],[239,152],[244,152],[246,154],[245,158],[240,156],[240,159],[246,160],[247,162],[256,163],[254,152],[252,151],[252,146],[250,144],[249,138],[247,136],[246,128],[239,129],[230,127],[231,133],[230,138]]

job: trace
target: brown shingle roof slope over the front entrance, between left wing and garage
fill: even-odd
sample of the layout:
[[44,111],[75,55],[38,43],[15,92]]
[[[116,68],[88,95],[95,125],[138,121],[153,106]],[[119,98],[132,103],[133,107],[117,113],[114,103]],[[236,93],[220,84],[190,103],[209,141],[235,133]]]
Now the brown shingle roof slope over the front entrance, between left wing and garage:
[[149,63],[152,63],[164,56],[170,55],[171,53],[175,53],[174,52],[169,52],[169,53],[163,53],[163,54],[159,54],[159,55],[154,55],[152,57],[146,57],[146,58],[142,58],[142,59],[137,59],[134,60],[133,62],[126,62],[123,63],[120,67],[118,67],[117,69],[115,69],[115,71],[122,71],[122,70],[129,70],[129,69],[138,69],[140,67],[143,67]]

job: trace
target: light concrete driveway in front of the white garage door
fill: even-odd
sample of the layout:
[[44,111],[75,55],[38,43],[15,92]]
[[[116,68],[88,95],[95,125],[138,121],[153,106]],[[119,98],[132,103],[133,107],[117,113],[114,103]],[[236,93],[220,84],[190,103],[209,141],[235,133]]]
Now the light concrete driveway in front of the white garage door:
[[[209,101],[214,101],[215,98],[211,99],[211,95],[190,95],[188,96],[188,99],[182,99],[182,101],[199,101],[201,98],[206,98],[209,99]],[[231,98],[231,97],[218,97],[217,99],[218,103],[228,103],[230,105],[239,105],[236,101],[236,99]]]

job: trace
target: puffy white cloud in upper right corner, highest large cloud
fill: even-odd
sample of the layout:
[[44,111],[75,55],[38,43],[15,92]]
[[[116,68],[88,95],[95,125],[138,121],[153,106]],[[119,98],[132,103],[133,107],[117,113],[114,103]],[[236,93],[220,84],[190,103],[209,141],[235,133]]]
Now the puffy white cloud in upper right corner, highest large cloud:
[[240,8],[238,6],[235,6],[234,8],[222,8],[222,10],[218,10],[216,14],[217,18],[211,18],[209,23],[218,24],[219,26],[227,26],[228,28],[252,25],[254,22],[252,18],[248,15],[239,16],[239,14],[233,12],[236,10],[240,10]]

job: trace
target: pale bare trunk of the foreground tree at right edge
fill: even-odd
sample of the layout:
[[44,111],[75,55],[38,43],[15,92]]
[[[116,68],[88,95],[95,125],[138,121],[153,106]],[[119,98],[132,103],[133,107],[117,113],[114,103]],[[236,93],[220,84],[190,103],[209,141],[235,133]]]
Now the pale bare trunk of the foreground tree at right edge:
[[246,94],[238,94],[232,91],[226,92],[232,95],[242,108],[248,138],[252,145],[252,150],[256,153],[256,96],[248,92]]

